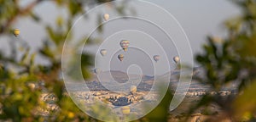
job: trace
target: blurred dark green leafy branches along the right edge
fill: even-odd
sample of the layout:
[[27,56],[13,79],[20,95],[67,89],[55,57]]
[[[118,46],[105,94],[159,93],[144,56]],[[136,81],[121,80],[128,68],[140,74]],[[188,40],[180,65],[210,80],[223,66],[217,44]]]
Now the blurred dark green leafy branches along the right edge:
[[[219,92],[229,84],[238,84],[235,96],[220,97],[207,94],[190,113],[201,107],[214,103],[220,107],[226,116],[218,121],[254,121],[255,113],[255,73],[256,73],[256,1],[234,0],[233,3],[241,8],[242,14],[228,19],[224,25],[228,36],[224,39],[208,37],[204,45],[204,53],[196,56],[206,76],[195,77],[201,83],[207,83],[212,91]],[[215,118],[216,120],[216,118]]]

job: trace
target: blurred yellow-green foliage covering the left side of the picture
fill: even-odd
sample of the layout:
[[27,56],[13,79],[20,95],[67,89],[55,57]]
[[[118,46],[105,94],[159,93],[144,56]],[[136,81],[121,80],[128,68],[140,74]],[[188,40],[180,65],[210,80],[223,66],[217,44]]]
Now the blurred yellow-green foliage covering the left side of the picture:
[[[0,121],[97,121],[77,108],[67,95],[60,78],[61,52],[75,18],[84,14],[85,8],[108,0],[35,0],[25,7],[21,7],[18,0],[0,0],[0,36],[7,35],[15,39],[12,35],[12,25],[21,17],[31,18],[37,24],[43,25],[33,10],[38,4],[47,2],[66,8],[67,19],[58,16],[55,26],[45,25],[47,38],[42,47],[32,52],[28,45],[24,45],[26,42],[18,36],[16,40],[22,45],[10,42],[11,56],[0,53]],[[72,40],[72,36],[67,40]],[[90,40],[90,43],[93,42],[93,39]],[[21,54],[20,58],[17,53]],[[34,60],[38,56],[48,59],[49,64],[35,64]],[[92,64],[91,56],[83,53],[81,64],[84,78],[88,78],[88,67]],[[45,93],[47,95],[42,96]],[[45,98],[48,100],[42,100]]]

